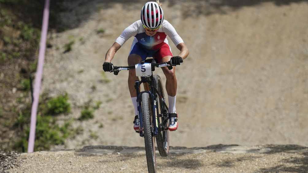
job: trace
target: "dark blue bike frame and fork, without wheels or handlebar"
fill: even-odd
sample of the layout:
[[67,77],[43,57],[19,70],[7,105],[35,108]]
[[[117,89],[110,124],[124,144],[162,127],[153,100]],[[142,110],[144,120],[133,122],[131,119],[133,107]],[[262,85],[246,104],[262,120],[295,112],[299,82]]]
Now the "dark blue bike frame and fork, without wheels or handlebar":
[[[159,116],[162,116],[161,114],[158,114],[157,110],[157,105],[156,105],[156,94],[159,96],[159,99],[162,101],[164,106],[167,108],[167,104],[165,103],[165,100],[160,96],[159,92],[156,90],[153,84],[154,78],[153,78],[153,73],[150,77],[141,77],[141,81],[135,81],[135,89],[137,92],[137,108],[138,108],[138,116],[139,116],[139,135],[140,137],[143,137],[143,119],[142,119],[142,111],[141,111],[141,95],[142,93],[148,93],[151,99],[151,104],[152,104],[152,133],[154,136],[158,134],[158,129],[160,128],[161,130],[167,130],[167,127],[163,127],[161,124],[164,123],[168,117],[166,117],[160,124],[158,124],[157,118]],[[140,92],[140,85],[142,83],[149,84],[150,86],[150,91],[142,91]],[[167,114],[168,116],[168,114]]]

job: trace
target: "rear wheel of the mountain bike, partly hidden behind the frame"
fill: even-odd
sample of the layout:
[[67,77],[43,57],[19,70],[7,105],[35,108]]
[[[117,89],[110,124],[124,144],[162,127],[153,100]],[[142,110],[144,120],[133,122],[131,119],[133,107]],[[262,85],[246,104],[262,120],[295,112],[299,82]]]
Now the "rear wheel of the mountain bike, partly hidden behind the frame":
[[[154,75],[154,87],[160,94],[160,96],[166,101],[165,94],[164,94],[164,88],[162,87],[162,82],[159,75]],[[165,121],[162,126],[168,127],[168,111],[166,106],[163,104],[163,101],[159,98],[159,96],[156,96],[156,106],[157,106],[157,115],[161,115],[157,118],[158,124],[162,123],[164,119],[167,118],[167,121]],[[159,154],[163,157],[168,156],[169,153],[169,130],[158,130],[158,134],[156,136],[156,143],[157,148],[159,151]]]

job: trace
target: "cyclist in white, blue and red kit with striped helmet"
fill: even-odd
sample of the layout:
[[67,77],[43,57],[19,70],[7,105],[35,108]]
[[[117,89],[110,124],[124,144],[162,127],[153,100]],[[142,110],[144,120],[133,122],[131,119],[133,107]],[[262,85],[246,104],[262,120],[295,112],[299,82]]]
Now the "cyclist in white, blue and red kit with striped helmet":
[[[173,56],[171,49],[168,45],[168,37],[180,50],[178,56]],[[188,49],[184,44],[182,38],[176,33],[173,26],[164,20],[164,12],[161,8],[159,1],[147,2],[141,10],[141,19],[128,26],[122,34],[115,40],[111,48],[107,51],[105,56],[105,62],[103,63],[104,71],[111,71],[113,59],[117,50],[127,41],[130,37],[134,37],[132,42],[131,51],[128,56],[128,65],[132,66],[139,64],[140,61],[144,61],[147,57],[153,57],[157,63],[170,61],[172,64],[180,65],[188,56]],[[166,76],[166,90],[168,93],[169,103],[169,131],[175,131],[178,128],[178,121],[176,114],[176,88],[177,81],[175,70],[169,70],[167,67],[162,67],[164,75]],[[136,77],[136,71],[134,69],[129,70],[128,75],[128,88],[132,97],[132,103],[135,108],[134,129],[139,130],[139,119],[137,110],[137,94],[135,90],[135,81],[139,78]]]

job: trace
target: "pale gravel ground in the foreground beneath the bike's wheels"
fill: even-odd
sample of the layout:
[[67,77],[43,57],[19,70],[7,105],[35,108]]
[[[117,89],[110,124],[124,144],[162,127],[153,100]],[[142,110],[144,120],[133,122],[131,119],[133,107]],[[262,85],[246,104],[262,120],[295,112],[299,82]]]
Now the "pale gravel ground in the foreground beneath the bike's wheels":
[[[24,162],[10,172],[147,172],[142,147],[43,151],[18,159]],[[173,147],[167,157],[157,157],[157,172],[306,173],[307,163],[308,148],[296,145]]]

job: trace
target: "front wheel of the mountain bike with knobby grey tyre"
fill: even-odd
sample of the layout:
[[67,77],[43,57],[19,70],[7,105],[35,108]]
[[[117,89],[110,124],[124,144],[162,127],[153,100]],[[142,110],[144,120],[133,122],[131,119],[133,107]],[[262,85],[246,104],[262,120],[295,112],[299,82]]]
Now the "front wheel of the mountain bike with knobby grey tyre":
[[155,137],[152,127],[151,100],[148,93],[141,95],[142,119],[144,128],[145,155],[147,157],[148,172],[156,173]]

